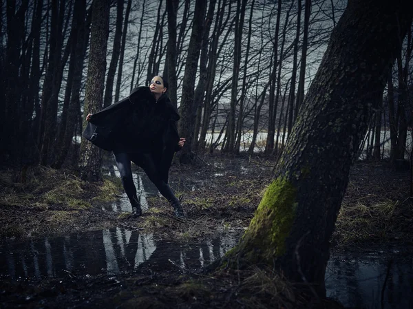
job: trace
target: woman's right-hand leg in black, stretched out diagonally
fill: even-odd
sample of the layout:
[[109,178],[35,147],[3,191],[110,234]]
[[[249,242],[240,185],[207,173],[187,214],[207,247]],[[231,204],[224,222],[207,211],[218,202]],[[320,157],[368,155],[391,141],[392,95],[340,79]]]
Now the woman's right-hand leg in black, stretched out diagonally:
[[162,194],[162,196],[166,198],[171,204],[173,209],[175,209],[176,216],[183,217],[184,212],[178,198],[176,198],[175,194],[173,194],[173,191],[171,187],[169,187],[169,184],[162,180],[162,177],[158,171],[158,168],[156,167],[155,161],[151,157],[151,154],[139,153],[132,158],[132,161],[142,167],[151,182],[153,182],[156,188],[158,188],[160,194]]

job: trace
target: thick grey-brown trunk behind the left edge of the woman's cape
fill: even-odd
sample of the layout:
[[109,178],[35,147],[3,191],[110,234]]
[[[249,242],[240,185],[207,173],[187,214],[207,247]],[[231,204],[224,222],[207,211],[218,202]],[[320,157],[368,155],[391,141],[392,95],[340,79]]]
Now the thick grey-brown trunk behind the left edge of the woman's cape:
[[[109,2],[94,0],[92,4],[92,28],[90,36],[89,65],[85,92],[84,116],[94,114],[102,108],[105,85],[107,37],[109,36]],[[86,118],[86,117],[85,117]],[[83,128],[86,120],[83,120]],[[81,144],[79,176],[82,180],[101,181],[101,151],[88,140]]]

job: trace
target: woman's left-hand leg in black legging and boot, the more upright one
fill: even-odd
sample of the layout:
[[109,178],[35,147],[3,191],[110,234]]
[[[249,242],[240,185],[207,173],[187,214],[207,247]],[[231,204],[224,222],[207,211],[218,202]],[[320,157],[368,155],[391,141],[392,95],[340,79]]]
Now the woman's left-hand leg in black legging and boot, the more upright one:
[[140,215],[142,213],[138,197],[136,196],[136,187],[132,178],[131,158],[128,153],[114,153],[116,165],[120,173],[123,189],[132,205],[132,213]]

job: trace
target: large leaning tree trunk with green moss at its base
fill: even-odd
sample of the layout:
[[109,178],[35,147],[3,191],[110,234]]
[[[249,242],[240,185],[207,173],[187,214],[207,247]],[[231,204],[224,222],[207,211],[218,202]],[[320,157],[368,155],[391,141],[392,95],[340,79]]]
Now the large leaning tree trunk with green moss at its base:
[[335,30],[274,180],[228,266],[264,264],[325,295],[329,240],[350,166],[410,27],[410,0],[349,1]]

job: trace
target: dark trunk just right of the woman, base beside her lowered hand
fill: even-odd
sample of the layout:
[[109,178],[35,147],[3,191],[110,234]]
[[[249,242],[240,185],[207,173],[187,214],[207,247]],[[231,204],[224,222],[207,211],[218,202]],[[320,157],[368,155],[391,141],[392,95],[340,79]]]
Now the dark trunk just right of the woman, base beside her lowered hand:
[[179,124],[180,136],[187,138],[185,147],[178,153],[180,162],[187,163],[193,160],[191,154],[193,140],[193,96],[196,72],[198,71],[198,59],[200,57],[203,24],[207,1],[196,0],[193,15],[193,27],[189,41],[187,65],[185,66],[184,79],[182,82],[182,101],[180,105],[181,120]]

